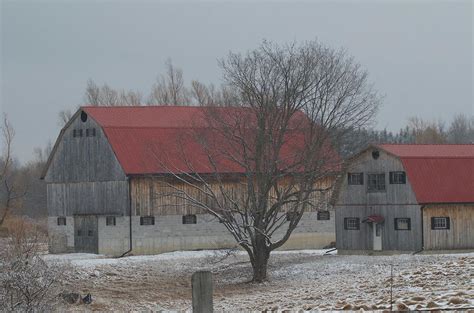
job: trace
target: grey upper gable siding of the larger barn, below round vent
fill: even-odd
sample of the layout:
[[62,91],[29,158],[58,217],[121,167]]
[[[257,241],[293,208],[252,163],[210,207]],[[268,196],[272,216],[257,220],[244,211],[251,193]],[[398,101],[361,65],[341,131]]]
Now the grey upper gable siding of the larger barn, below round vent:
[[[86,137],[88,128],[95,128],[94,137]],[[74,129],[82,129],[82,137],[73,137]],[[76,114],[58,140],[46,182],[126,180],[105,133],[90,116],[82,122],[80,114]]]

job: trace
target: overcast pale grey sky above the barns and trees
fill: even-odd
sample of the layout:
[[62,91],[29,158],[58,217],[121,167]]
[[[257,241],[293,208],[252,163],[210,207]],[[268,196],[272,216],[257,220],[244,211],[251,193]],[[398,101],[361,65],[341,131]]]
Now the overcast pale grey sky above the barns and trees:
[[56,139],[89,78],[148,95],[172,58],[188,82],[219,84],[217,59],[262,39],[345,47],[386,96],[378,128],[474,113],[471,1],[0,1],[0,101],[21,161]]

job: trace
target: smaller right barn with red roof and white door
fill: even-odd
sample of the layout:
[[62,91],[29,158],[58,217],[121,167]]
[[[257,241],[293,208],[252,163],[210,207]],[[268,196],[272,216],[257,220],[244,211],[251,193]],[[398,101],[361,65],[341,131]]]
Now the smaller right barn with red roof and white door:
[[474,248],[474,145],[377,145],[347,162],[339,253]]

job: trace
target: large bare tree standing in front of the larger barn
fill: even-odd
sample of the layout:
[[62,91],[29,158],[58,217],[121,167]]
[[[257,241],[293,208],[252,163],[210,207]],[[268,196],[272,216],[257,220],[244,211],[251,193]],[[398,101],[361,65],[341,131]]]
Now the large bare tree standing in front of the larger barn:
[[[205,109],[206,128],[195,136],[212,174],[199,173],[182,145],[187,168],[168,170],[193,191],[168,188],[223,223],[247,251],[253,281],[262,282],[271,251],[327,192],[321,180],[339,171],[341,160],[331,146],[343,129],[372,121],[379,97],[352,58],[315,41],[264,42],[220,64],[228,88],[245,106]],[[166,163],[165,156],[157,158]],[[229,168],[241,174],[229,181]]]

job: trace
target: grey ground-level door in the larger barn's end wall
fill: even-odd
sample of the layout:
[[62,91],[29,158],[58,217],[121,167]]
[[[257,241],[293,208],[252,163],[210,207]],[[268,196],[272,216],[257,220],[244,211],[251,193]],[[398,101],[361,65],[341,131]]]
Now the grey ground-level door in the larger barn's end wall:
[[76,252],[99,252],[96,215],[76,215],[74,217],[74,247]]

